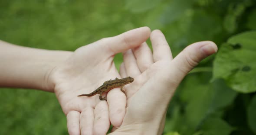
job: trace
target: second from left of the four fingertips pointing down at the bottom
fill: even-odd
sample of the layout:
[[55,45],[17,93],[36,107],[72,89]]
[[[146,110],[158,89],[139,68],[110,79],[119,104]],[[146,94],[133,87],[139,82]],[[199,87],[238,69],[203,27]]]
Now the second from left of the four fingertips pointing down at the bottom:
[[80,115],[81,135],[92,135],[93,122],[94,122],[93,108],[91,107],[84,108]]

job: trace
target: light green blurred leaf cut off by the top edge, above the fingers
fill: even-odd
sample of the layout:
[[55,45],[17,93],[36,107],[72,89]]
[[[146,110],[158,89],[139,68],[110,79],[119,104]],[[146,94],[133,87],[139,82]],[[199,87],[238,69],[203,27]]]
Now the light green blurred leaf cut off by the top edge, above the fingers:
[[141,13],[157,6],[162,0],[125,0],[126,9],[132,13]]

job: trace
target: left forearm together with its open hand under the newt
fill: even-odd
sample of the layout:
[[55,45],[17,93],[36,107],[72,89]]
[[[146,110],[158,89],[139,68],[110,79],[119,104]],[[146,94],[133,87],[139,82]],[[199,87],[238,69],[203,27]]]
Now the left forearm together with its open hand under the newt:
[[[99,95],[90,93],[106,80],[121,78],[113,58],[145,42],[148,27],[104,38],[71,51],[25,48],[0,42],[0,87],[23,87],[54,92],[67,116],[70,135],[105,134],[110,122],[121,125],[126,96],[120,88],[108,92],[102,105]],[[101,103],[101,104],[98,104]],[[100,118],[100,119],[99,119]]]

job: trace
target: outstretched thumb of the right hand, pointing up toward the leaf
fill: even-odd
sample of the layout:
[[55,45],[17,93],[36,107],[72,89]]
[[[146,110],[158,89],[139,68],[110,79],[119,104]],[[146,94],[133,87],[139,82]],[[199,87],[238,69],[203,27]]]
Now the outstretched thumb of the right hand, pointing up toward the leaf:
[[[217,45],[210,41],[196,42],[187,46],[172,61],[167,62],[157,74],[148,80],[150,87],[141,90],[144,96],[154,99],[152,105],[158,106],[159,102],[169,103],[174,91],[181,83],[181,80],[191,71],[200,61],[209,55],[217,52]],[[159,85],[161,84],[161,85]],[[148,89],[151,92],[148,92]]]

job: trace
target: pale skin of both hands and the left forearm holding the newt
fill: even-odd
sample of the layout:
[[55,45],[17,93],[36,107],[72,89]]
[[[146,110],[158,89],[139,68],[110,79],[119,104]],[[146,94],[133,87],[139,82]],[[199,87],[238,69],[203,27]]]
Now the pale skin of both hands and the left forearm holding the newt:
[[[145,43],[149,37],[153,54]],[[55,92],[67,116],[70,135],[104,135],[110,122],[119,127],[112,134],[149,131],[160,134],[167,104],[182,78],[216,51],[213,42],[199,42],[172,59],[164,35],[158,30],[151,33],[148,27],[99,40],[75,52],[23,48],[0,42],[0,87]],[[121,77],[113,64],[113,56],[118,52],[125,52]],[[124,87],[128,100],[120,88],[108,92],[108,102],[100,101],[98,95],[77,96],[90,93],[106,80],[127,76],[135,78]]]

